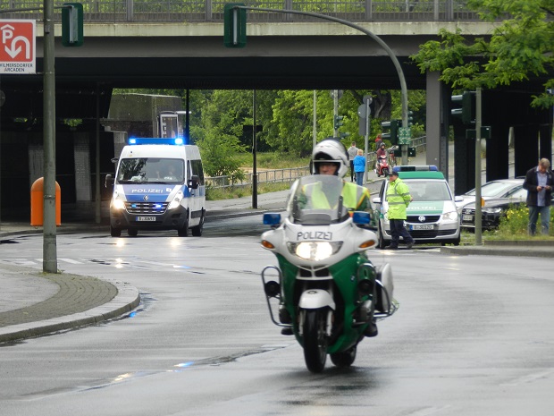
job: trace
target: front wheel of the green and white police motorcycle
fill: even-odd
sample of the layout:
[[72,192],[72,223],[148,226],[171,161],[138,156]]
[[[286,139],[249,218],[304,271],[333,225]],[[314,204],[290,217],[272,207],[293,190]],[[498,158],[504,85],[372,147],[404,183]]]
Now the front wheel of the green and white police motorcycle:
[[306,310],[304,323],[304,361],[313,373],[321,373],[327,360],[327,310]]

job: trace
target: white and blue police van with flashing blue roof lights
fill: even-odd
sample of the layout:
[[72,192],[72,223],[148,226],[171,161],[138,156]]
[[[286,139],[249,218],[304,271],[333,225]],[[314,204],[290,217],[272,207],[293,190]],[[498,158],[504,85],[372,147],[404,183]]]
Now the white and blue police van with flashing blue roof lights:
[[202,235],[206,187],[197,146],[182,138],[132,138],[122,149],[110,201],[110,233],[122,230],[177,230],[181,237]]

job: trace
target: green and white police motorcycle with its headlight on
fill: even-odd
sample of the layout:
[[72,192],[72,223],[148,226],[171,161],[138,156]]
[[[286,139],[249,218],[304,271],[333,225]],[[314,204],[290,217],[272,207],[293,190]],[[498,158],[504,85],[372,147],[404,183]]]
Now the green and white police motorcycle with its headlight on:
[[[264,214],[262,246],[279,266],[262,271],[273,323],[295,335],[306,367],[323,371],[327,354],[339,367],[356,359],[357,344],[377,335],[375,321],[399,307],[389,264],[367,257],[378,237],[366,229],[370,214],[348,213],[338,176],[315,174],[292,187],[287,213]],[[287,334],[289,333],[289,334]]]

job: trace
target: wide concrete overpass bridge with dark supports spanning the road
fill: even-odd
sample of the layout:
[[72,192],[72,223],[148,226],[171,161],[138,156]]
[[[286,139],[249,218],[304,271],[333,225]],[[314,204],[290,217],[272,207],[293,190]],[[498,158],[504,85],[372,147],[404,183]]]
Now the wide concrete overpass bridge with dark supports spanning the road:
[[[26,1],[24,5],[31,8],[40,7],[42,3],[41,0]],[[55,0],[56,5],[63,3],[65,1]],[[81,3],[85,11],[85,42],[82,47],[63,47],[61,26],[55,25],[56,117],[83,119],[85,123],[81,129],[90,133],[92,143],[99,135],[95,135],[97,120],[107,117],[113,88],[399,89],[398,73],[382,47],[365,34],[339,23],[298,14],[248,12],[247,47],[226,48],[222,41],[225,2],[84,0]],[[247,4],[256,6],[257,3]],[[0,4],[0,11],[16,6],[21,7],[21,0],[9,0]],[[428,162],[448,166],[445,136],[448,117],[444,115],[449,113],[449,91],[437,81],[438,74],[421,74],[409,60],[409,55],[415,54],[425,41],[437,39],[441,28],[452,31],[459,28],[470,38],[486,37],[494,24],[478,21],[474,13],[467,11],[464,0],[315,1],[309,4],[285,0],[263,6],[332,15],[356,22],[382,38],[398,57],[407,88],[427,89]],[[24,191],[20,198],[24,204],[29,196],[29,180],[32,183],[41,174],[33,167],[36,163],[30,162],[32,157],[28,157],[29,170],[20,171],[17,180],[11,178],[5,166],[13,166],[4,160],[9,154],[5,149],[17,148],[23,157],[29,153],[29,145],[39,147],[41,141],[40,72],[44,29],[42,15],[38,12],[4,13],[0,17],[38,21],[39,73],[0,77],[0,89],[5,97],[0,112],[4,147],[1,200],[3,205],[8,204],[6,200],[17,193],[14,191],[17,188]],[[59,18],[58,13],[56,20]],[[536,80],[526,84],[527,94],[540,91],[541,82]],[[492,96],[491,100],[494,101]],[[13,123],[21,119],[28,123]],[[514,120],[510,115],[503,115],[502,122],[509,119]],[[506,131],[502,127],[493,129],[493,134],[495,132],[501,135],[497,145],[506,148],[506,157],[500,151],[496,155],[498,165],[487,164],[488,169],[491,166],[490,179],[503,176],[505,168],[508,169],[508,146],[502,141],[504,136],[507,137]],[[75,133],[58,129],[56,140],[60,140],[63,134],[68,134],[67,140],[71,142],[71,135]],[[101,140],[105,140],[105,133],[101,135]],[[71,172],[76,171],[77,150],[71,149],[71,155],[65,153],[69,151],[65,147],[58,146],[57,149],[58,155],[63,149],[63,158],[58,157],[56,162],[58,172],[66,171],[71,176]],[[523,154],[526,157],[527,152]],[[90,155],[90,165],[94,166],[92,159],[94,155]],[[522,166],[524,163],[526,166],[528,159],[522,162]],[[74,174],[63,188],[85,186],[90,188],[89,192],[84,197],[75,192],[72,200],[87,200],[88,194],[95,194],[95,181],[85,181],[83,185],[78,179],[81,174],[94,176],[94,172]],[[460,189],[467,186],[467,183],[460,185]]]

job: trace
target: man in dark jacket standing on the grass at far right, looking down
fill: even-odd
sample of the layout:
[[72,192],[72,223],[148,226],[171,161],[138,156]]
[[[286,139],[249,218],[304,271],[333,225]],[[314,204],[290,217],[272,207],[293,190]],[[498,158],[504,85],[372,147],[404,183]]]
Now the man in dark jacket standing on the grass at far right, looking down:
[[525,174],[524,189],[527,190],[527,207],[529,223],[527,233],[534,235],[537,231],[537,220],[541,214],[541,233],[548,235],[550,229],[550,204],[554,174],[550,170],[550,160],[541,158],[539,166],[533,167]]

